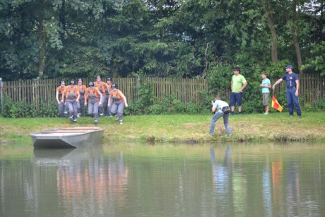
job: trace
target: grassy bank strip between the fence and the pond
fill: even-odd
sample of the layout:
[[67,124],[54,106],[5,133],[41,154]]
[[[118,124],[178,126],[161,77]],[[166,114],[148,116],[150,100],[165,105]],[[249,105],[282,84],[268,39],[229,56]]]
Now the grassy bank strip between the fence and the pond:
[[[234,115],[230,117],[232,137],[226,136],[222,119],[215,124],[215,136],[209,136],[210,121],[211,115],[141,115],[124,117],[123,125],[119,125],[113,117],[103,117],[99,119],[99,126],[105,128],[105,142],[325,141],[324,112],[305,112],[302,119],[278,112]],[[93,126],[90,117],[81,117],[76,124],[61,118],[0,118],[0,122],[1,145],[31,144],[28,135],[33,131]]]

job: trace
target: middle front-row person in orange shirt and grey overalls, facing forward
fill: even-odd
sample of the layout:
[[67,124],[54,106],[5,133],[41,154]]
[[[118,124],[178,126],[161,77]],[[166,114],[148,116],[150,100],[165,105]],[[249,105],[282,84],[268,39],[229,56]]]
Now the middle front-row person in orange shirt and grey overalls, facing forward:
[[102,102],[102,93],[94,87],[93,81],[89,82],[89,87],[85,90],[85,106],[88,100],[88,115],[93,115],[95,125],[98,125],[98,106]]

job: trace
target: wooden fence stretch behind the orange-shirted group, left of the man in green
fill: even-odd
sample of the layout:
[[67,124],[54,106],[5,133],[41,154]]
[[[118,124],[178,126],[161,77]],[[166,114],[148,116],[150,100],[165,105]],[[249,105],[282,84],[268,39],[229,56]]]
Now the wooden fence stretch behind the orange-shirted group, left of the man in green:
[[[83,84],[88,86],[90,79],[83,79]],[[147,82],[153,84],[153,95],[162,99],[165,95],[175,95],[184,104],[191,99],[198,100],[199,90],[208,90],[208,84],[203,79],[182,79],[182,78],[146,78]],[[59,79],[26,80],[26,81],[4,81],[3,98],[9,98],[12,102],[27,104],[40,103],[47,105],[56,101],[56,89],[59,86]],[[68,84],[69,81],[66,81]],[[129,103],[138,98],[138,87],[143,81],[140,78],[113,78]]]

